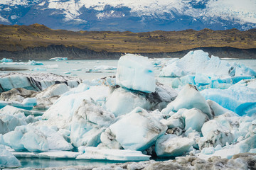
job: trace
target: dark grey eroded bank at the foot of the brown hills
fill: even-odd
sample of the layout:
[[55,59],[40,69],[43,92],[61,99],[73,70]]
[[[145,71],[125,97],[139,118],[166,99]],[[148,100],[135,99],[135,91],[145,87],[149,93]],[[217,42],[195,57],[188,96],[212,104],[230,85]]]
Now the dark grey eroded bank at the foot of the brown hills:
[[[139,55],[149,58],[180,58],[191,50],[203,50],[208,52],[209,55],[225,59],[256,59],[256,48],[238,49],[234,47],[196,47],[177,52],[142,52]],[[49,45],[48,47],[28,47],[15,52],[1,50],[0,58],[10,58],[12,60],[48,60],[53,57],[68,57],[69,60],[118,60],[124,54],[124,52],[96,52],[78,47]]]

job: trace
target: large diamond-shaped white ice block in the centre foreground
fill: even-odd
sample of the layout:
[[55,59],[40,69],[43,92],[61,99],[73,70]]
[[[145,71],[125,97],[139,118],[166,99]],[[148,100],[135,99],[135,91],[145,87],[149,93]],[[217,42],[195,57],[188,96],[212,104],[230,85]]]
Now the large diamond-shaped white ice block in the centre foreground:
[[124,149],[143,151],[151,147],[167,127],[138,107],[110,125],[110,130]]

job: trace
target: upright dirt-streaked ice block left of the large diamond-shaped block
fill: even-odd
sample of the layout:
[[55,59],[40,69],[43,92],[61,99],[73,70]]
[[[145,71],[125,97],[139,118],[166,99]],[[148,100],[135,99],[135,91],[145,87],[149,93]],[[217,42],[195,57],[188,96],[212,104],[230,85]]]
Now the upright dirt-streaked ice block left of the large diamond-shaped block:
[[71,142],[75,147],[96,147],[104,128],[110,126],[114,118],[112,113],[107,113],[90,101],[82,101],[71,121]]

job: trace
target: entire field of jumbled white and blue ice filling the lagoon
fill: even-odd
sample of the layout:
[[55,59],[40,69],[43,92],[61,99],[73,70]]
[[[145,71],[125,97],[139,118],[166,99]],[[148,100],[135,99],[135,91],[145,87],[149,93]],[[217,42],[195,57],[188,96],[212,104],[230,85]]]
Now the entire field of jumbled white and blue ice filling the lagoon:
[[[230,159],[254,153],[256,63],[241,61],[245,65],[198,50],[180,60],[126,55],[119,61],[41,61],[36,67],[13,62],[11,67],[28,70],[0,78],[1,104],[7,105],[0,110],[0,145],[4,160],[12,160],[0,168],[18,166],[15,157],[23,166],[46,167],[86,165],[87,159],[145,161],[152,154]],[[28,103],[47,111],[23,110]]]

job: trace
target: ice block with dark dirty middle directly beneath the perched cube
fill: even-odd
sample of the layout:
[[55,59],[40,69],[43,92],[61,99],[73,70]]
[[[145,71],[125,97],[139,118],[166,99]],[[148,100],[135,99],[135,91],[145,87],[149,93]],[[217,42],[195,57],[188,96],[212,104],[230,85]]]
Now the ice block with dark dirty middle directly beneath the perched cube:
[[141,107],[146,110],[166,108],[167,104],[177,96],[177,91],[169,86],[156,84],[156,91],[151,94],[142,91],[132,91],[122,87],[114,89],[112,94],[107,97],[105,107],[107,111],[114,115],[124,115],[131,112],[134,108]]

